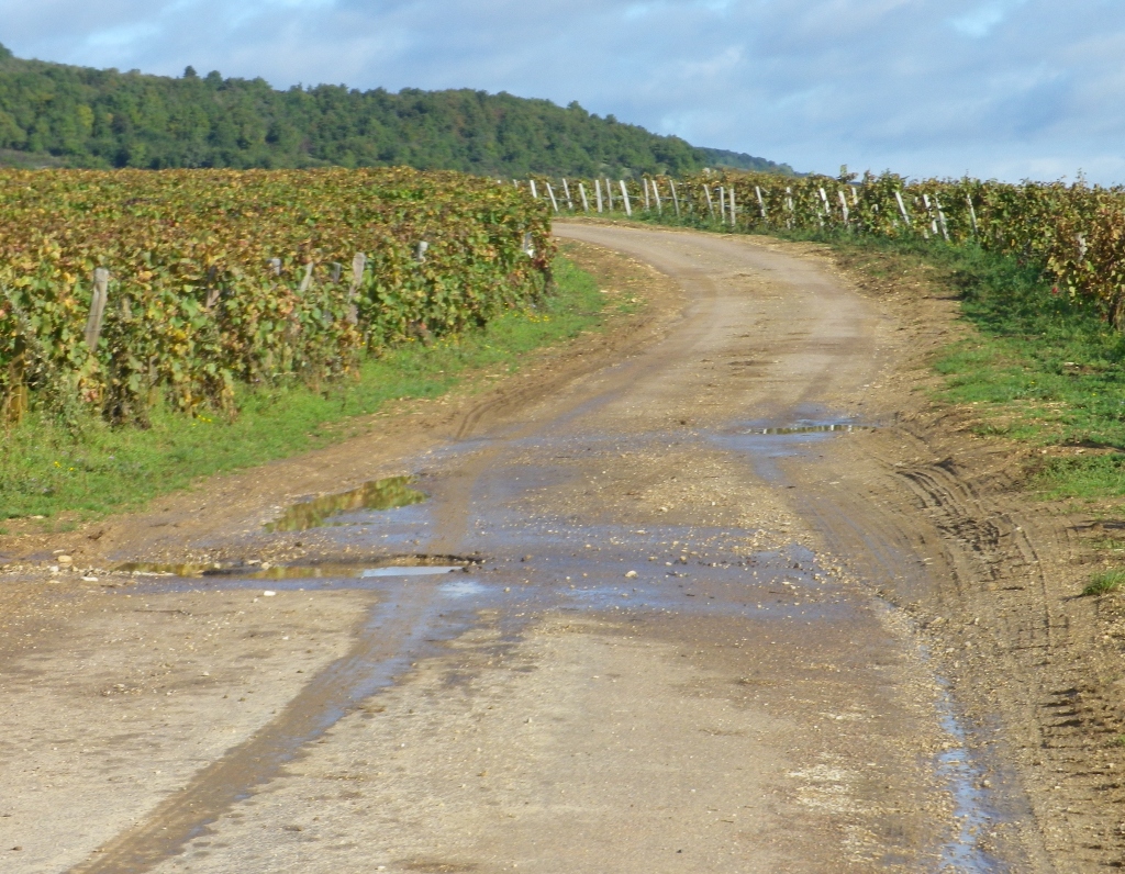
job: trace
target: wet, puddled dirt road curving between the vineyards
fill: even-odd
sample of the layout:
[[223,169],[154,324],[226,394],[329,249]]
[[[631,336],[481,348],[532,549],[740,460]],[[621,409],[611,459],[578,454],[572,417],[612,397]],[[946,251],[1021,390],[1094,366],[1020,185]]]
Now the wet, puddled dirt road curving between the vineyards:
[[[856,484],[900,325],[780,245],[557,233],[648,319],[25,556],[4,871],[1055,870],[879,594],[946,573]],[[285,514],[396,475],[425,501]],[[153,557],[186,567],[105,570]]]

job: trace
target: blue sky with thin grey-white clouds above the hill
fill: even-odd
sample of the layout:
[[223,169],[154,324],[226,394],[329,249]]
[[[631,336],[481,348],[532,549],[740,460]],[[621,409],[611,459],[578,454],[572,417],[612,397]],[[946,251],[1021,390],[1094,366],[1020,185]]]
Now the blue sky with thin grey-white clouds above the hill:
[[1125,182],[1122,0],[0,0],[0,43],[577,100],[802,171]]

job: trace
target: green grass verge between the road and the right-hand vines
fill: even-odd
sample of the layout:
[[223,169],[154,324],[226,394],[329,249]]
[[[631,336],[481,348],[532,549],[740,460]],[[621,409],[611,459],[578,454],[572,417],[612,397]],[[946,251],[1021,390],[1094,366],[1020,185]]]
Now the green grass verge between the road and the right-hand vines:
[[834,241],[885,255],[888,271],[960,296],[976,330],[935,360],[943,400],[973,409],[975,430],[1048,450],[1032,480],[1044,498],[1125,495],[1125,335],[1091,301],[1071,298],[1033,265],[975,245]]

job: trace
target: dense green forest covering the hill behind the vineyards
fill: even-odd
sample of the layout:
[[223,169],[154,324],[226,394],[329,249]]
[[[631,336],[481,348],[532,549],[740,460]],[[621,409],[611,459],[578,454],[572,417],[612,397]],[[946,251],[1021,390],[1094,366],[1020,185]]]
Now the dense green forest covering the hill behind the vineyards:
[[791,173],[784,164],[484,91],[278,91],[262,79],[183,76],[25,61],[0,46],[0,165],[300,168],[408,165],[525,177]]

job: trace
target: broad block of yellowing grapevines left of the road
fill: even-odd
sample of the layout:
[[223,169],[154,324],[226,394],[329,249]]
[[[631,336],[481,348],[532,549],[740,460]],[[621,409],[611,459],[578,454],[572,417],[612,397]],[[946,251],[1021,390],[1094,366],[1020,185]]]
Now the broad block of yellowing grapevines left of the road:
[[549,209],[413,170],[0,174],[0,417],[318,385],[542,294]]

